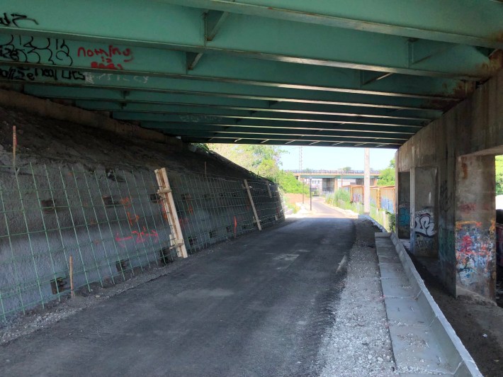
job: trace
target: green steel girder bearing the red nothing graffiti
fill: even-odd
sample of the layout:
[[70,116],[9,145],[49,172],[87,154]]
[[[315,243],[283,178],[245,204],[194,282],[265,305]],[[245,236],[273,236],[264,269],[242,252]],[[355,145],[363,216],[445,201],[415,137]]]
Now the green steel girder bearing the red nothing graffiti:
[[[0,33],[0,62],[21,67],[78,70],[98,80],[103,74],[186,79],[198,86],[200,81],[246,84],[310,91],[460,99],[475,85],[440,77],[411,77],[358,69],[308,66],[288,62],[247,59],[208,54],[204,64],[188,70],[184,52],[145,47],[126,47],[55,38],[31,38]],[[113,46],[113,47],[112,47]],[[257,88],[264,89],[264,88]]]

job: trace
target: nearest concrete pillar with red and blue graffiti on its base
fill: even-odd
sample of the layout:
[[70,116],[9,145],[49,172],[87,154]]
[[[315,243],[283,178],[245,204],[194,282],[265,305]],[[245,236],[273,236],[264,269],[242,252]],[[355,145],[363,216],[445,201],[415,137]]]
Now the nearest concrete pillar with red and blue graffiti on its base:
[[458,157],[456,162],[456,288],[494,300],[496,210],[494,156]]

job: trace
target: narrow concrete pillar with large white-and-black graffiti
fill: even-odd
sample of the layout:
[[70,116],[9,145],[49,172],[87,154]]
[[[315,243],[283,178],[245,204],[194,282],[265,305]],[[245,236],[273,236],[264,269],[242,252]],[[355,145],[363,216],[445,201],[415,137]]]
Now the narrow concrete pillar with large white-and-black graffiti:
[[417,257],[438,257],[436,167],[410,169],[410,249]]

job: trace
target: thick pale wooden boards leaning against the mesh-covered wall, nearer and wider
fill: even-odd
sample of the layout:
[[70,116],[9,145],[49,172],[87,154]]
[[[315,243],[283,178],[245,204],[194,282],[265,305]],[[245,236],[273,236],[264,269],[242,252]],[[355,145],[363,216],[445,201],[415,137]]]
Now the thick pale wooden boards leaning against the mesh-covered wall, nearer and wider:
[[185,242],[183,242],[183,234],[181,232],[178,214],[176,213],[171,186],[169,186],[166,168],[163,167],[162,169],[155,170],[155,176],[157,178],[157,184],[159,184],[159,190],[157,193],[162,199],[164,212],[166,213],[169,225],[171,226],[171,231],[174,233],[175,237],[175,240],[171,240],[171,242],[174,242],[178,256],[186,258],[188,257],[187,249],[185,247]]

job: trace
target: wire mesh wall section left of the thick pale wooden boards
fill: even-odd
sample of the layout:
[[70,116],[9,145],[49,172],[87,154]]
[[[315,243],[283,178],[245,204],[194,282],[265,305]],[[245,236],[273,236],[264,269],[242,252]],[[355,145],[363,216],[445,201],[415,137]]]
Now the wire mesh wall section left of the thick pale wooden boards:
[[0,166],[0,319],[176,257],[154,172],[25,162]]

